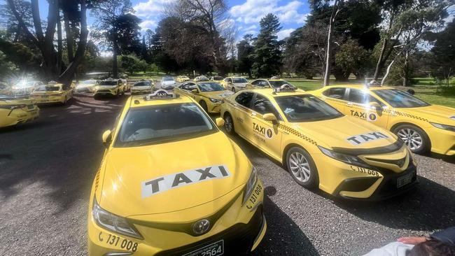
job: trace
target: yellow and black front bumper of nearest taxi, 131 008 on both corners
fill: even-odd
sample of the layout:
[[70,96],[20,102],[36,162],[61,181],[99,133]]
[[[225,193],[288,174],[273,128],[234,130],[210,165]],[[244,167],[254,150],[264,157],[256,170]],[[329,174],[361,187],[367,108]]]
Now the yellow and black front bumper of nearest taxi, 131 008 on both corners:
[[[267,229],[267,224],[262,211],[263,184],[259,180],[255,185],[250,200],[242,204],[244,192],[239,190],[237,196],[223,210],[207,217],[200,214],[200,218],[208,220],[213,218],[209,232],[200,236],[188,233],[186,227],[191,227],[197,218],[189,223],[185,222],[144,222],[132,220],[134,227],[144,236],[143,240],[130,238],[121,234],[110,232],[99,227],[94,222],[89,208],[88,218],[88,250],[89,255],[114,255],[113,253],[127,253],[124,255],[186,255],[194,250],[204,248],[223,241],[224,255],[239,255],[254,250]],[[195,206],[181,211],[179,216],[198,213],[206,206]],[[188,211],[188,212],[187,212]],[[211,209],[213,211],[213,209]],[[175,215],[175,213],[166,213]],[[219,215],[218,215],[219,214]],[[189,231],[190,232],[190,231]],[[111,243],[112,241],[112,243]]]

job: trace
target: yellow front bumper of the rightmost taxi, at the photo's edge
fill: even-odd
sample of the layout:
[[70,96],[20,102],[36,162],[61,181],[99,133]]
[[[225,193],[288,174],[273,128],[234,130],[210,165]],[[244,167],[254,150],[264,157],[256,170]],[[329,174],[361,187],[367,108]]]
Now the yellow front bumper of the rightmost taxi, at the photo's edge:
[[430,127],[426,129],[431,141],[431,151],[442,155],[455,155],[455,132]]

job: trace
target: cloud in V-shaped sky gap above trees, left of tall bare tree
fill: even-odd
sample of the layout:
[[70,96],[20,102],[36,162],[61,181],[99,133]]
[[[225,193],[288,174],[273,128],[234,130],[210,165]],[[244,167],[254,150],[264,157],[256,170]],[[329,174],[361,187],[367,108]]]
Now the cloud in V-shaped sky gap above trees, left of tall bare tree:
[[155,29],[162,17],[162,12],[175,0],[147,0],[133,6],[135,14],[142,19],[141,29]]

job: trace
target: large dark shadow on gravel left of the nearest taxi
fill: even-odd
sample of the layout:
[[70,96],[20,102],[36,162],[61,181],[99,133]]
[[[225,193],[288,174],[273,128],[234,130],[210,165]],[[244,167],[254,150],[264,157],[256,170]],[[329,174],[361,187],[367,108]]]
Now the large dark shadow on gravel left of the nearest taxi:
[[34,122],[1,130],[0,196],[41,193],[60,211],[87,199],[104,152],[102,133],[112,128],[125,100],[105,101],[109,108],[101,108],[93,99],[76,98],[68,106],[41,108]]

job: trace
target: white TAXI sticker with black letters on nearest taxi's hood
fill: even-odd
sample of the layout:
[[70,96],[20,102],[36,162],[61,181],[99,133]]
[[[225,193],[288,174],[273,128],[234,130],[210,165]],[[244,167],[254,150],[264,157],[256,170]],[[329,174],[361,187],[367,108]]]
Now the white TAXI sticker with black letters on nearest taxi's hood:
[[172,173],[167,176],[161,176],[152,180],[146,180],[141,183],[142,197],[151,197],[155,194],[172,190],[185,185],[193,185],[206,180],[216,178],[226,178],[230,176],[227,166],[215,165],[206,166],[179,173]]

